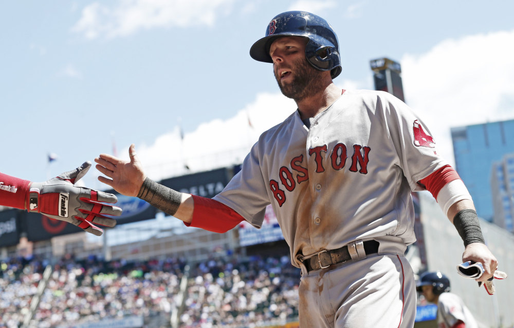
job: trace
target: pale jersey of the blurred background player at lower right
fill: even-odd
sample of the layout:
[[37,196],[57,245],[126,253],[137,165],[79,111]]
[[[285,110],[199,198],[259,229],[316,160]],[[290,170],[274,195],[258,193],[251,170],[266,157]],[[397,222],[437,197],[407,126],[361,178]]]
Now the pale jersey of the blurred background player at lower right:
[[444,292],[439,295],[437,303],[437,325],[439,328],[451,328],[458,320],[464,322],[466,328],[478,328],[473,315],[460,297],[451,292]]

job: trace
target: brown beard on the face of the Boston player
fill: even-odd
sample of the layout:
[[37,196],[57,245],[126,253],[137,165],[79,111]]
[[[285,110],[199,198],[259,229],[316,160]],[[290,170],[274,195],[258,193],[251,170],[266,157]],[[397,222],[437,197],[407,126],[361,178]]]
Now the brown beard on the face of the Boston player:
[[293,61],[291,69],[295,72],[295,76],[291,82],[285,85],[280,83],[280,76],[277,72],[273,72],[280,91],[287,98],[300,101],[310,95],[314,95],[324,89],[322,84],[322,72],[311,66],[305,58]]

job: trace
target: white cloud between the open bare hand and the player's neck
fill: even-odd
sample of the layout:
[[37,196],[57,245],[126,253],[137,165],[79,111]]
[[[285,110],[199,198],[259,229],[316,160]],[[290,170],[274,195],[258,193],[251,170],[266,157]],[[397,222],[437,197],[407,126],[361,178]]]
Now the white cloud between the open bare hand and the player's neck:
[[[296,109],[280,93],[258,94],[248,106],[227,120],[200,124],[180,139],[179,127],[157,138],[152,145],[136,145],[146,174],[162,179],[241,163],[265,130],[279,124]],[[251,126],[248,123],[250,120]],[[128,160],[128,150],[121,157]]]

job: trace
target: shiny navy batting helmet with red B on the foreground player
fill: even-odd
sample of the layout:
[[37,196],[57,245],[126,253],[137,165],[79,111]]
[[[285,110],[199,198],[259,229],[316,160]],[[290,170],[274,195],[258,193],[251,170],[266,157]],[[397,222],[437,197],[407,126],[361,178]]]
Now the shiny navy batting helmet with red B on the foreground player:
[[305,57],[317,70],[331,71],[332,78],[341,73],[336,33],[320,16],[306,11],[286,11],[275,16],[266,28],[266,36],[250,48],[250,56],[258,61],[272,63],[269,47],[275,39],[285,36],[305,37],[309,40],[305,47]]

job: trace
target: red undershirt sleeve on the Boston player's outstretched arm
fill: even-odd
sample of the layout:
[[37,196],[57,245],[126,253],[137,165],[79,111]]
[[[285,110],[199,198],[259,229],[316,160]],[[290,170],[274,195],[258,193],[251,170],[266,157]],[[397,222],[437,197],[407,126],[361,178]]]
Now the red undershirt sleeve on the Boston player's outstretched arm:
[[217,200],[191,196],[194,201],[193,219],[191,223],[184,222],[188,227],[224,233],[244,221],[240,214]]

